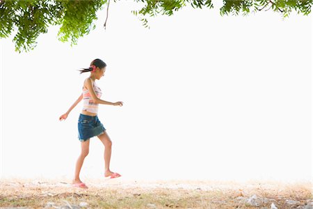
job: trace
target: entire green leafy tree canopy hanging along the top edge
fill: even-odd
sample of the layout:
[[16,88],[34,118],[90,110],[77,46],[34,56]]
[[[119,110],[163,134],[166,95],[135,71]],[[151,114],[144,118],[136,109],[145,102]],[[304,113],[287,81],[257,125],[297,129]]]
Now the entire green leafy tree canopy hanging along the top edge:
[[[116,2],[118,0],[114,0]],[[147,17],[158,14],[173,15],[184,6],[214,8],[211,0],[134,0],[144,3],[141,10],[131,10],[148,27]],[[250,12],[273,10],[288,17],[295,10],[298,14],[311,13],[313,0],[223,0],[220,15],[248,15]],[[60,25],[58,40],[76,45],[77,40],[95,29],[96,13],[110,0],[0,0],[0,37],[8,38],[13,31],[15,51],[28,52],[35,48],[40,33],[47,33],[50,25]],[[104,23],[105,27],[105,23]]]

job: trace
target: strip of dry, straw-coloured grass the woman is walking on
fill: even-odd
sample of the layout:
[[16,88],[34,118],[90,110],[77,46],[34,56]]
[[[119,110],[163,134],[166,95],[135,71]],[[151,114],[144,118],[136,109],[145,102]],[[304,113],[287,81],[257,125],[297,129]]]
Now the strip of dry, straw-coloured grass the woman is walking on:
[[[71,180],[7,179],[0,183],[0,207],[28,208],[312,208],[312,184],[233,181],[86,180],[89,189]],[[248,201],[256,195],[255,201]],[[250,199],[251,200],[251,199]],[[294,201],[294,202],[292,202]],[[49,202],[54,203],[47,207]]]

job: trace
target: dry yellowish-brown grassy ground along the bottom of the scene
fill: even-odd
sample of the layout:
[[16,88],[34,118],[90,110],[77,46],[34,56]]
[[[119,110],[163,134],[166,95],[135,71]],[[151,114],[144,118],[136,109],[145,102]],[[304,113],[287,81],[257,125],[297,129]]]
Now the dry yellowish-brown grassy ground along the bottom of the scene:
[[[88,208],[149,208],[148,203],[154,204],[156,208],[270,208],[272,202],[278,208],[288,208],[287,199],[300,201],[297,206],[305,206],[307,201],[312,201],[311,185],[230,184],[225,187],[224,183],[223,187],[218,187],[217,184],[213,187],[213,183],[207,183],[213,189],[201,189],[200,187],[205,184],[199,183],[199,188],[173,189],[141,187],[138,183],[134,184],[134,187],[115,185],[110,187],[108,183],[104,187],[91,186],[89,189],[79,189],[62,185],[47,187],[0,183],[0,207],[44,208],[47,202],[53,202],[56,206],[66,206],[65,201],[78,206],[83,201],[88,203]],[[250,206],[246,199],[253,194],[273,201],[261,203],[259,207]],[[237,199],[239,196],[242,201]]]

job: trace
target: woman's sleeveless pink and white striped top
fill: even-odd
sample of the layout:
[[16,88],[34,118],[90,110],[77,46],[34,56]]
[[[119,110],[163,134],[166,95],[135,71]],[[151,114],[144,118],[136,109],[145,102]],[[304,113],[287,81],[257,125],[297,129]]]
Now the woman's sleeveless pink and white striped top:
[[[99,86],[97,86],[97,84],[95,84],[95,82],[93,82],[93,90],[95,91],[97,98],[101,98],[102,91],[99,88]],[[89,112],[93,112],[93,113],[97,114],[98,113],[98,106],[99,106],[99,104],[96,104],[93,101],[93,98],[91,97],[88,89],[85,88],[85,86],[83,86],[83,111],[89,111]]]

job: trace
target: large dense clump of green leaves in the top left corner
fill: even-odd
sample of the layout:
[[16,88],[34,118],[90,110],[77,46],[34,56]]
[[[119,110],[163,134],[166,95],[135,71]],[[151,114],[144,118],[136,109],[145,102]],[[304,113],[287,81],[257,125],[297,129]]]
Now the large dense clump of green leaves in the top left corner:
[[97,1],[0,1],[0,37],[8,38],[13,30],[15,51],[26,52],[37,45],[40,33],[47,33],[49,25],[61,25],[58,39],[71,45],[95,29],[96,12],[106,0]]

